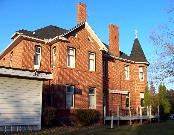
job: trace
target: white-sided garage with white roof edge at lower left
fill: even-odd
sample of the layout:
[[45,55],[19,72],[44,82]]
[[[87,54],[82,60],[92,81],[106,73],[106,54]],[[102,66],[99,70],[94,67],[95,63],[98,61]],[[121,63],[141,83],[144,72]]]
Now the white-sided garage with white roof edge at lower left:
[[42,83],[52,74],[0,67],[0,131],[41,129]]

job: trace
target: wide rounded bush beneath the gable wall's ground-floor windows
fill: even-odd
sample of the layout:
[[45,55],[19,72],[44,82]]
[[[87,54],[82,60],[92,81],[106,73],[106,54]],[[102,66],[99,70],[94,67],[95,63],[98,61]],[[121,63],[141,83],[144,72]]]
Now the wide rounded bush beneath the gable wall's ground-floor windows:
[[100,120],[100,113],[94,109],[75,110],[75,123],[80,126],[89,126]]

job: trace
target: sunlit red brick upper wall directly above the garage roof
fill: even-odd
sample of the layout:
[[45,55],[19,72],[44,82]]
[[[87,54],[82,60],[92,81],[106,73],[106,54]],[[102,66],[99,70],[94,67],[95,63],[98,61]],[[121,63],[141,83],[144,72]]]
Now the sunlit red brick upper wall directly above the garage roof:
[[50,46],[29,40],[22,40],[12,50],[10,50],[0,60],[0,65],[10,67],[10,53],[13,51],[13,56],[11,61],[13,68],[34,70],[35,45],[39,45],[42,48],[41,67],[39,70],[50,72]]

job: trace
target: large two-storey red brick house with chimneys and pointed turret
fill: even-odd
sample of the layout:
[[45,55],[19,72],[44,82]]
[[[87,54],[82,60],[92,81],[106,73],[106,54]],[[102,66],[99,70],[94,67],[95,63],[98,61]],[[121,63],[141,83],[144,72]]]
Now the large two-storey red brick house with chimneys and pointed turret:
[[[34,31],[19,30],[0,55],[0,66],[51,72],[53,79],[43,84],[43,107],[54,106],[66,116],[79,108],[103,105],[140,105],[147,85],[148,61],[138,38],[131,55],[119,50],[118,27],[109,25],[109,46],[86,21],[86,5],[77,6],[77,26],[70,30],[47,26]],[[63,113],[62,113],[63,112]]]

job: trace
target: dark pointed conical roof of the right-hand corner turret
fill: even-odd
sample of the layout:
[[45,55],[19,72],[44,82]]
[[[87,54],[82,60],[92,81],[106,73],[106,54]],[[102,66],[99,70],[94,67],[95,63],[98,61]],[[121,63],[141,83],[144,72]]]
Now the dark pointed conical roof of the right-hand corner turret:
[[138,38],[134,40],[130,58],[135,62],[148,62],[144,55],[143,49],[141,48]]

